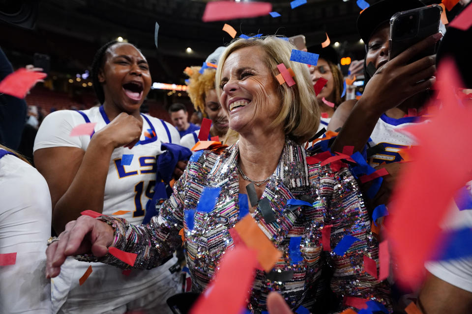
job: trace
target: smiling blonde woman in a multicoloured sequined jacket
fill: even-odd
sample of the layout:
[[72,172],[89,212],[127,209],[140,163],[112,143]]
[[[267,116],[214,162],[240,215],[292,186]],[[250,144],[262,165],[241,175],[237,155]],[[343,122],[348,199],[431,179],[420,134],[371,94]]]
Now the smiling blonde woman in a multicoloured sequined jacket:
[[[378,243],[370,231],[357,182],[348,168],[334,171],[329,165],[307,164],[300,145],[318,130],[320,112],[307,66],[290,61],[294,48],[274,36],[238,39],[228,46],[215,80],[219,103],[239,140],[221,153],[194,155],[175,184],[174,194],[148,225],[131,226],[124,219],[106,216],[83,216],[69,223],[60,240],[48,248],[48,276],[59,274],[66,256],[84,253],[88,255],[80,258],[124,267],[107,254],[109,246],[137,253],[135,267],[158,266],[180,245],[178,233],[183,228],[193,289],[202,291],[220,258],[235,245],[229,230],[243,215],[239,194],[254,183],[257,199],[264,201],[254,207],[248,204],[248,214],[282,257],[270,272],[256,271],[249,309],[266,311],[266,297],[272,290],[280,292],[291,309],[303,305],[313,313],[342,311],[346,308],[343,296],[376,300],[389,307],[388,284],[378,282],[363,268],[364,256],[378,259]],[[276,80],[281,63],[292,68],[295,85]],[[196,213],[190,231],[184,213],[196,209],[206,186],[221,187],[221,193],[211,212]],[[287,209],[289,199],[300,198],[316,205]],[[324,246],[322,231],[328,225],[332,226],[327,234],[332,248],[344,236],[358,239],[346,254],[337,255]],[[294,262],[289,243],[297,236],[301,238],[301,258]],[[332,271],[325,272],[327,265]],[[331,291],[337,294],[337,301],[323,304]]]

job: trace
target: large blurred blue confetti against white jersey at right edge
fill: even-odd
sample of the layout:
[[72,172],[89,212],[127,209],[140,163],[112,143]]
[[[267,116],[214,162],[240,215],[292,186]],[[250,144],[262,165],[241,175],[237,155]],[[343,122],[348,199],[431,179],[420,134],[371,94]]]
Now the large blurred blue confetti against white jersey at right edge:
[[438,252],[432,260],[447,261],[472,256],[472,228],[447,231],[442,234]]

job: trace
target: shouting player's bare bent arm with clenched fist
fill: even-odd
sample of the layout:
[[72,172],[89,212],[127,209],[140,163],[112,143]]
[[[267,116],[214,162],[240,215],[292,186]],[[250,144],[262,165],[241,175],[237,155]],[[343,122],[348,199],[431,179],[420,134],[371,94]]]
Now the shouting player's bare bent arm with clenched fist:
[[51,192],[52,225],[58,234],[85,209],[102,212],[113,150],[139,139],[141,128],[141,121],[121,113],[93,134],[86,152],[78,147],[42,148],[34,152],[35,165]]

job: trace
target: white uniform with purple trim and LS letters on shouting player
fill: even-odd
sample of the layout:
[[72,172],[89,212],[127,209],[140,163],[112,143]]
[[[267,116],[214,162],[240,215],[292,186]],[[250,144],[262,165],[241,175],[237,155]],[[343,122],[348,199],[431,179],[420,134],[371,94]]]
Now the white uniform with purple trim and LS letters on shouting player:
[[[180,139],[171,124],[145,114],[141,116],[143,132],[140,142],[132,149],[119,147],[112,153],[103,205],[105,215],[113,215],[118,210],[128,211],[116,216],[132,224],[143,221],[146,204],[152,199],[156,155],[162,153],[161,143],[179,144]],[[94,130],[99,131],[110,121],[103,106],[49,114],[38,130],[33,151],[58,146],[87,150],[91,136],[69,136],[75,126],[86,122],[96,122]],[[130,165],[121,165],[123,155],[133,155]],[[166,299],[178,292],[178,278],[169,272],[169,267],[175,262],[177,259],[173,258],[152,270],[132,270],[129,276],[116,267],[91,263],[92,274],[83,286],[79,286],[79,278],[90,263],[68,258],[61,267],[60,275],[52,280],[53,313],[57,313],[61,306],[61,311],[67,313],[101,313],[149,295],[155,295],[160,300],[164,310],[162,313],[165,313],[168,310]]]

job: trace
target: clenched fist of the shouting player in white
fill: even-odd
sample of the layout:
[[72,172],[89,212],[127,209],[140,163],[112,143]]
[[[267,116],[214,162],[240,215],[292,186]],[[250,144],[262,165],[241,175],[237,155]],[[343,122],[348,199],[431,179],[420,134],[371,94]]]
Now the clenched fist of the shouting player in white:
[[[143,130],[143,121],[134,116],[121,112],[105,128],[95,133],[97,138],[117,148],[120,146],[132,148],[138,141]],[[93,140],[92,137],[92,140]]]

